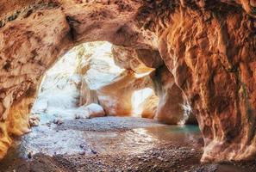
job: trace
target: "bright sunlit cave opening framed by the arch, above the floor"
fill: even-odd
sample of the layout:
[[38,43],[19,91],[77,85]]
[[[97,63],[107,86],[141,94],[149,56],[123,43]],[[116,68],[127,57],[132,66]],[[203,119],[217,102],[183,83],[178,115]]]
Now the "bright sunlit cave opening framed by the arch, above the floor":
[[[109,42],[84,43],[59,58],[41,82],[32,108],[35,114],[30,120],[32,126],[38,125],[37,115],[41,122],[102,116],[141,117],[142,113],[147,114],[142,117],[151,114],[149,118],[153,118],[155,109],[149,101],[154,93],[144,79],[150,72],[136,74],[122,69],[116,65],[111,49]],[[154,102],[155,108],[157,102]]]

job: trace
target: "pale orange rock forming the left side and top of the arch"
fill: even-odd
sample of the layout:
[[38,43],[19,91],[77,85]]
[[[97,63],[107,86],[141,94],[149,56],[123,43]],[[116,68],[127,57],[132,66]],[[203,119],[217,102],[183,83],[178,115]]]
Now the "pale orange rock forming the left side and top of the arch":
[[139,3],[83,4],[35,4],[39,7],[33,13],[22,9],[15,21],[0,28],[1,157],[12,135],[28,132],[29,110],[44,72],[72,46],[95,40],[151,46],[151,41],[143,42],[142,35],[129,24]]

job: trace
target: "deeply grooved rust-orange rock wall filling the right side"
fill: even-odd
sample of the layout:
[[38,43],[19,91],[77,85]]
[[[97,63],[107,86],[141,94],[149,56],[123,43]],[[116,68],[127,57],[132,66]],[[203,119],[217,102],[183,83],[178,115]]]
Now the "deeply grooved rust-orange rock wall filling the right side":
[[161,57],[197,115],[202,161],[255,157],[255,3],[162,2],[148,10],[141,27],[158,33]]

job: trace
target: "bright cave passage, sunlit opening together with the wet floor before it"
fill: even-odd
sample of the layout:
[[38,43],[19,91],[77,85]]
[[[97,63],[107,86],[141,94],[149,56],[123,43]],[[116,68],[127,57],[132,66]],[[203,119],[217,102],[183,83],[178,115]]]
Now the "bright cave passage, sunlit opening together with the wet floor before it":
[[[181,159],[186,158],[183,152],[202,151],[197,126],[168,126],[154,119],[159,104],[149,82],[154,70],[145,66],[139,66],[138,73],[122,69],[111,50],[109,42],[84,43],[53,64],[41,81],[31,110],[32,131],[15,140],[0,169],[60,170],[65,165],[59,162],[62,157],[69,159],[66,170],[111,170],[120,165],[115,163],[120,155],[132,158],[131,163],[147,157],[153,164],[156,157],[165,161],[168,156],[164,151],[171,146],[172,155]],[[104,156],[113,158],[103,160]],[[115,165],[83,165],[90,163],[87,160],[75,164],[76,157]],[[193,161],[199,162],[199,158]],[[51,165],[47,165],[49,162]]]

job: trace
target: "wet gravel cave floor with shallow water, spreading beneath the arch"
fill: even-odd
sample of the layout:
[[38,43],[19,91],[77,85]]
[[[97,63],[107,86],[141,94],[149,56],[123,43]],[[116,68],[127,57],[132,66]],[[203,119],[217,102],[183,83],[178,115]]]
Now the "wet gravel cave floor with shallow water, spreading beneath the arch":
[[17,139],[0,171],[256,171],[256,162],[200,164],[197,126],[139,118],[41,122]]

